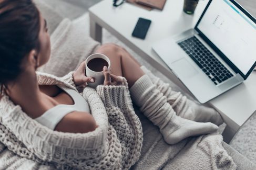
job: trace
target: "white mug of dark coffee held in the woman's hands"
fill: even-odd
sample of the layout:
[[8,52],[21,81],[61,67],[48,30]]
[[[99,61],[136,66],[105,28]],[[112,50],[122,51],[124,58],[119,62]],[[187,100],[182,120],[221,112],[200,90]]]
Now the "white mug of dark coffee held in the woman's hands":
[[85,60],[85,72],[87,77],[93,77],[94,83],[88,83],[88,86],[96,88],[98,85],[103,84],[105,77],[103,74],[103,67],[107,66],[110,69],[110,60],[104,54],[96,53],[91,54]]

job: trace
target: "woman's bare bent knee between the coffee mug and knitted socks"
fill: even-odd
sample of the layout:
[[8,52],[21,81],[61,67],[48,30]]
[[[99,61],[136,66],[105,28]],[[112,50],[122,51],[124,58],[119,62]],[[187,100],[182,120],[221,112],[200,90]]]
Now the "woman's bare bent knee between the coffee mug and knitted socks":
[[140,64],[124,49],[116,44],[104,44],[97,53],[108,56],[111,65],[111,73],[124,76],[129,88],[145,73],[140,69]]

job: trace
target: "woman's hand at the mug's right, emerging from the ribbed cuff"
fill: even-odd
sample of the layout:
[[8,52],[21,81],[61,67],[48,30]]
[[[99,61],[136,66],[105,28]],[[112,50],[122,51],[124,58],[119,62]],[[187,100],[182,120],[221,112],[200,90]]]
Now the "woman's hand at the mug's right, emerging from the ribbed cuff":
[[108,71],[108,67],[104,66],[103,67],[103,74],[105,77],[104,80],[104,85],[105,86],[119,86],[122,85],[122,78],[119,76],[116,76],[114,74],[110,74],[110,72]]

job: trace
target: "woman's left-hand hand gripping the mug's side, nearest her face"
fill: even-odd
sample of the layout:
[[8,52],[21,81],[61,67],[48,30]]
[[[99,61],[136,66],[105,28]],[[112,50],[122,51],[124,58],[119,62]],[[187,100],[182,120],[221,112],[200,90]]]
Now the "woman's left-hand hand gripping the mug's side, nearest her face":
[[83,86],[88,82],[94,83],[94,79],[92,77],[85,76],[85,61],[80,64],[76,72],[73,74],[73,81],[76,86]]

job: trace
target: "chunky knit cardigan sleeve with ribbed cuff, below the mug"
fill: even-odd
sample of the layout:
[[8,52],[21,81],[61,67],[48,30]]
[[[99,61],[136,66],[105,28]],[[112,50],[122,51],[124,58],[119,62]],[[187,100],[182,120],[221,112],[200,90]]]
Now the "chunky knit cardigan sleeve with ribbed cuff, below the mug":
[[142,128],[132,107],[128,86],[97,86],[110,126],[117,131],[122,145],[122,169],[129,169],[139,160]]

